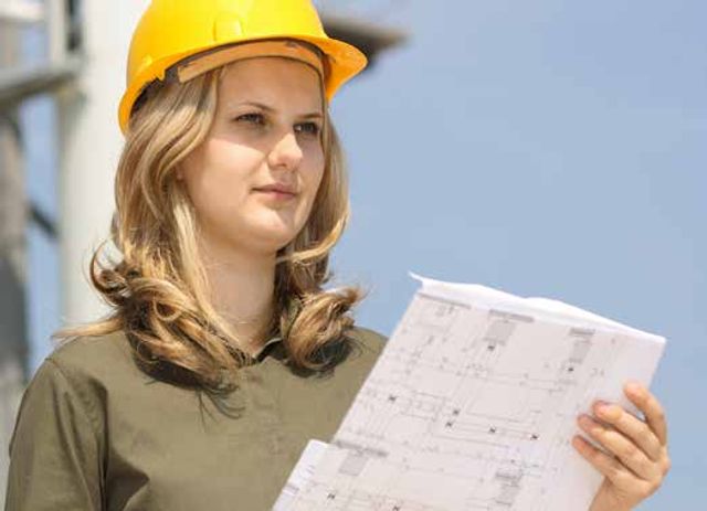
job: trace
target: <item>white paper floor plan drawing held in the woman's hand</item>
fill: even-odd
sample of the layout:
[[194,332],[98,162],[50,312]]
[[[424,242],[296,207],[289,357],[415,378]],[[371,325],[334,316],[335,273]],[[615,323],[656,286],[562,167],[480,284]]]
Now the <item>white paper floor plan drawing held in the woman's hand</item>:
[[279,510],[584,511],[576,417],[648,383],[663,338],[548,300],[423,279],[330,446]]

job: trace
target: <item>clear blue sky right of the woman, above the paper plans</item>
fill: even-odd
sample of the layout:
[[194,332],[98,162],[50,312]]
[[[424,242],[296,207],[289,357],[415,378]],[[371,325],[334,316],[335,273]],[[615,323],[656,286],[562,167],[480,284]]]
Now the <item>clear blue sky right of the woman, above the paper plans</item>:
[[641,509],[695,509],[707,498],[707,3],[384,3],[409,43],[333,106],[354,207],[334,268],[370,289],[359,322],[391,333],[411,269],[667,337],[653,388],[674,468]]

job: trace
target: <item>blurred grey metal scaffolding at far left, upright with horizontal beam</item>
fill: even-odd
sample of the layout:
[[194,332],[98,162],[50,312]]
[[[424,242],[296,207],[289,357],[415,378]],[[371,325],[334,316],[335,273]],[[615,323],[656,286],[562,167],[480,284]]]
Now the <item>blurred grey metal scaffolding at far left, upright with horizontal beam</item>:
[[[75,2],[25,0],[0,2],[0,507],[4,505],[7,447],[28,376],[28,254],[25,233],[30,222],[51,222],[33,207],[25,191],[25,169],[19,106],[38,94],[57,91],[80,72],[80,60],[70,57],[66,17]],[[20,49],[27,25],[43,26],[50,34],[48,62],[25,66]]]

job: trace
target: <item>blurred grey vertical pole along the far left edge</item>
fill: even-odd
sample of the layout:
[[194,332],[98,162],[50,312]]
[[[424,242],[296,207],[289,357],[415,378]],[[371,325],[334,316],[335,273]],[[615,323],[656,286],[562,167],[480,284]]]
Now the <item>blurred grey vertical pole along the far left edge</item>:
[[[0,15],[0,72],[18,65],[20,30]],[[10,440],[27,362],[24,281],[27,194],[17,107],[0,108],[0,446]],[[0,457],[4,483],[7,456]],[[4,489],[0,491],[4,505]]]

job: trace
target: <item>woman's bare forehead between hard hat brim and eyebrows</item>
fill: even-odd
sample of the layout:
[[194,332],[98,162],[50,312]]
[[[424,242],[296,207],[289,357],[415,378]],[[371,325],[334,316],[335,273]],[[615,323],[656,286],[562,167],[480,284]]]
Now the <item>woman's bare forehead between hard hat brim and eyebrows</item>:
[[292,58],[257,57],[224,67],[219,99],[223,105],[258,102],[321,110],[324,92],[319,73],[312,66]]

